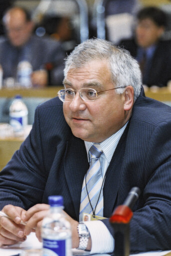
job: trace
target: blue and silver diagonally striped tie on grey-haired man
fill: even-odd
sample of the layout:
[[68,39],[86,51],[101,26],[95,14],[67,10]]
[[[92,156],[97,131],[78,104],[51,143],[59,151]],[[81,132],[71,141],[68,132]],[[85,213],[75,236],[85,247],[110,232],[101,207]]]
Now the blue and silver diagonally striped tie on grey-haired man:
[[82,221],[83,212],[103,216],[102,175],[99,161],[102,153],[99,144],[93,144],[89,149],[90,165],[82,184],[79,221]]

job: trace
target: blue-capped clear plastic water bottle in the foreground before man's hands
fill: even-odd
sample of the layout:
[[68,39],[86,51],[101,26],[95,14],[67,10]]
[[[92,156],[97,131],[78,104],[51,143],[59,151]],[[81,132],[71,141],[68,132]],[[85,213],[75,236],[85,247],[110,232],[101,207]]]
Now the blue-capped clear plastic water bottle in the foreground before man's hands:
[[42,221],[42,256],[71,256],[71,229],[63,209],[62,196],[49,196],[49,213]]

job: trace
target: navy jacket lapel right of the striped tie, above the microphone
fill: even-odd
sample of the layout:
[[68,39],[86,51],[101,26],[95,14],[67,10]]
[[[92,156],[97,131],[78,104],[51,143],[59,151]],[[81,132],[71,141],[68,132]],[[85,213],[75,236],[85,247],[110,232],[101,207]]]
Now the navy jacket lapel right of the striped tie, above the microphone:
[[117,195],[122,172],[122,162],[126,145],[126,137],[129,123],[127,124],[106,171],[103,187],[104,217],[109,217],[117,204]]

